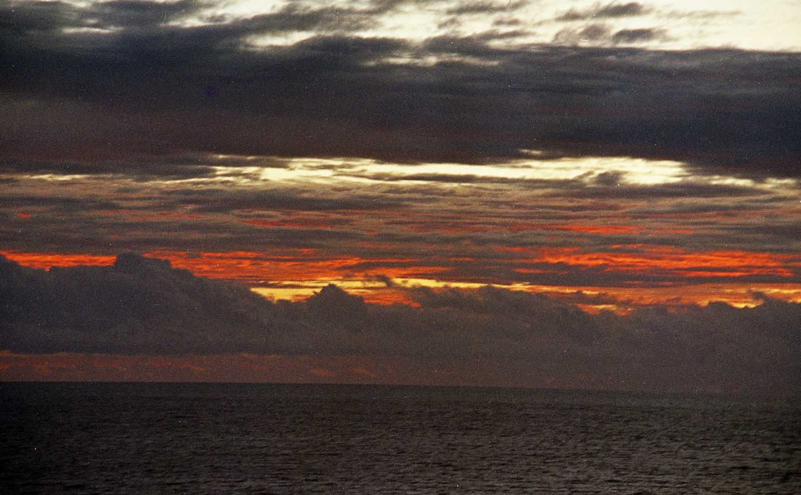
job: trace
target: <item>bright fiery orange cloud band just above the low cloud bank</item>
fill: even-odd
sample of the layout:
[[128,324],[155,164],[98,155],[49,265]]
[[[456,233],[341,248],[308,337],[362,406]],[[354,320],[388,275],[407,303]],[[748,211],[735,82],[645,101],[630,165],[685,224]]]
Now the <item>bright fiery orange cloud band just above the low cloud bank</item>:
[[[376,243],[365,247],[389,248]],[[766,292],[782,300],[801,300],[801,285],[791,283],[793,268],[801,266],[801,256],[783,253],[747,252],[738,250],[688,252],[676,247],[616,244],[610,252],[584,252],[579,247],[497,247],[498,251],[513,253],[506,264],[509,271],[527,274],[567,275],[570,266],[602,267],[605,272],[626,274],[672,275],[687,283],[659,284],[648,287],[629,284],[623,287],[560,287],[558,285],[517,284],[516,290],[545,292],[557,298],[569,297],[576,291],[604,293],[618,303],[580,303],[588,312],[611,309],[626,312],[641,304],[707,304],[720,300],[739,306],[755,304],[753,292]],[[0,254],[19,264],[33,268],[70,267],[76,265],[111,265],[115,256],[77,253],[42,253],[2,251]],[[331,256],[309,248],[279,248],[270,253],[238,252],[178,252],[154,251],[146,256],[169,260],[175,268],[183,268],[196,276],[241,280],[263,287],[258,292],[279,299],[304,299],[325,284],[352,284],[348,291],[362,296],[369,303],[415,305],[409,291],[401,287],[376,284],[375,275],[389,279],[425,279],[432,287],[444,287],[460,281],[454,278],[454,264],[481,264],[481,257],[431,256],[425,262],[414,258],[380,258],[361,256]],[[553,265],[553,267],[549,266]],[[501,265],[503,266],[503,265]],[[741,283],[747,276],[775,276],[787,284]],[[443,278],[445,277],[445,278]],[[717,278],[717,284],[698,284],[698,279]],[[728,280],[725,284],[723,280]],[[356,286],[354,282],[364,282]],[[265,282],[275,283],[269,287]],[[288,282],[285,287],[280,284]],[[610,305],[612,304],[612,305]]]

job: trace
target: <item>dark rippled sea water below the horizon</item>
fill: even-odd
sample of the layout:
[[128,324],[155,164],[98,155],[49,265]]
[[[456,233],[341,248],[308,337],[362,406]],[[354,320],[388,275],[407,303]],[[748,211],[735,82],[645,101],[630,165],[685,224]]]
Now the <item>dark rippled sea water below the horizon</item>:
[[286,384],[0,384],[2,493],[801,493],[801,405]]

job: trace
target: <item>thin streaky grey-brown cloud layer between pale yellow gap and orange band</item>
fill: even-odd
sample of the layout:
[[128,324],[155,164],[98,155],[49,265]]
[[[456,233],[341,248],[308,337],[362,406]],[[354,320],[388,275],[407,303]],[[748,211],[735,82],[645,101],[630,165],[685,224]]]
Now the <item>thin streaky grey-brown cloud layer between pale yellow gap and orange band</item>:
[[[449,268],[448,280],[465,276],[493,283],[503,283],[504,269],[512,267],[488,274],[488,267],[475,272],[467,263],[457,270],[447,257],[481,266],[493,260],[492,246],[605,249],[609,243],[662,243],[688,252],[735,244],[758,252],[799,247],[791,226],[797,198],[787,194],[791,189],[770,192],[764,184],[684,179],[642,185],[626,183],[626,175],[618,172],[553,180],[358,170],[339,175],[372,182],[22,179],[0,198],[0,211],[8,219],[0,224],[0,237],[4,249],[25,252],[31,246],[35,251],[113,254],[126,249],[255,251],[282,245],[323,249],[328,256],[369,252],[376,263],[369,265],[371,270],[387,257],[414,256],[428,259],[427,269]],[[613,228],[604,231],[605,225]],[[384,246],[360,245],[372,239]],[[462,244],[470,248],[461,249]],[[426,255],[423,248],[433,246],[440,246],[445,257]],[[410,262],[398,266],[414,268]],[[549,284],[558,284],[553,274],[559,269],[547,271]],[[587,284],[594,272],[569,273],[566,283]],[[614,271],[598,275],[614,284],[625,279]],[[510,276],[525,280],[520,274]],[[676,274],[666,276],[675,280]]]

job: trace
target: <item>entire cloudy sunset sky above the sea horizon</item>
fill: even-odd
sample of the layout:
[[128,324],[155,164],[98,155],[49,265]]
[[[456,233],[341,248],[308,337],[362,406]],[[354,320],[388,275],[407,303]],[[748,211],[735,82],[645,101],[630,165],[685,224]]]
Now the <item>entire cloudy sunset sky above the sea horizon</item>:
[[801,4],[0,3],[0,380],[784,394]]

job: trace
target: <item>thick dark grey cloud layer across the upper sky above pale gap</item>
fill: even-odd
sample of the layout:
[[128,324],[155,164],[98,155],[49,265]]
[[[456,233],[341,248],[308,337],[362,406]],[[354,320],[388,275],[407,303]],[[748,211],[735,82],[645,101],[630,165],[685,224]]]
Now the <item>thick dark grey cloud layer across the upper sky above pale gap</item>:
[[[348,34],[368,25],[378,6],[288,8],[193,27],[158,22],[199,5],[0,6],[3,155],[52,163],[91,149],[487,163],[530,159],[521,150],[536,149],[673,159],[711,174],[801,173],[799,54],[501,49],[488,42],[509,34],[420,45]],[[598,13],[634,14],[638,5]],[[65,31],[74,27],[115,30]],[[292,30],[320,35],[289,46],[244,45]],[[603,34],[626,43],[662,35]],[[443,54],[449,58],[433,66],[415,62]],[[127,167],[119,163],[119,171]]]

